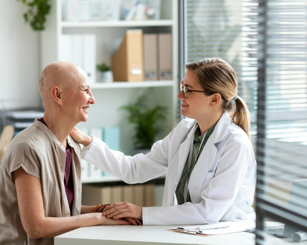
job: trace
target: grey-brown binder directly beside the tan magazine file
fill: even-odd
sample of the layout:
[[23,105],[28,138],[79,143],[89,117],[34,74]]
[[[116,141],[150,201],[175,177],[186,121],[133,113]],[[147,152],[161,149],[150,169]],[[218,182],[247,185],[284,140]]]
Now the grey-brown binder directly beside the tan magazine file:
[[144,80],[157,80],[157,34],[144,34]]

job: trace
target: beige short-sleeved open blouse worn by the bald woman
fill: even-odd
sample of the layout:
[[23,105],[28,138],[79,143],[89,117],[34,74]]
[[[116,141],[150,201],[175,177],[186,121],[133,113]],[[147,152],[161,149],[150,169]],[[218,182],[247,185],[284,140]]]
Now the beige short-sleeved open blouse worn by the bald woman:
[[[72,216],[81,211],[80,145],[67,138],[72,147],[74,199]],[[53,238],[30,239],[20,219],[13,171],[22,167],[41,179],[46,217],[70,216],[64,187],[66,150],[47,126],[34,123],[17,134],[0,164],[0,244],[53,244]]]

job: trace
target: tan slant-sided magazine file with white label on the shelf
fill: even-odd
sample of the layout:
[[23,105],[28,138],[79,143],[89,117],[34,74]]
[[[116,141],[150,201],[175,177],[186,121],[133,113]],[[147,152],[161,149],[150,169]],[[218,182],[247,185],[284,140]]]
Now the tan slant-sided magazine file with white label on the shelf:
[[144,81],[142,30],[126,31],[112,57],[112,71],[114,81]]

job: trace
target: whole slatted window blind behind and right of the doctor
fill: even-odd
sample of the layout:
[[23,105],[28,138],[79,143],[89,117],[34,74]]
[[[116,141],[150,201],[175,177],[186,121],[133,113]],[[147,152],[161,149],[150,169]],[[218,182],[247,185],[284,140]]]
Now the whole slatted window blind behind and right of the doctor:
[[298,198],[292,206],[289,199],[293,181],[307,179],[307,2],[181,2],[183,60],[226,60],[251,112],[257,243],[269,244],[261,232],[266,217],[306,230],[306,197],[292,194]]

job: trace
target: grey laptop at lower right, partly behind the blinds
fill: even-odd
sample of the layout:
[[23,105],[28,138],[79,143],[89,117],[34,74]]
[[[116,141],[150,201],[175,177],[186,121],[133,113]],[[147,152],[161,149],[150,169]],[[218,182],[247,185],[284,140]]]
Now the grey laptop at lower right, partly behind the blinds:
[[[302,202],[299,198],[304,198],[307,200],[306,196],[306,190],[307,190],[307,179],[301,179],[301,180],[294,180],[290,199],[289,199],[289,205],[294,205],[293,207],[303,208],[306,209],[306,206],[301,205]],[[292,227],[288,224],[282,224],[282,225],[275,225],[275,226],[268,226],[264,229],[264,231],[279,237],[290,237],[293,233],[298,232],[299,229]]]

